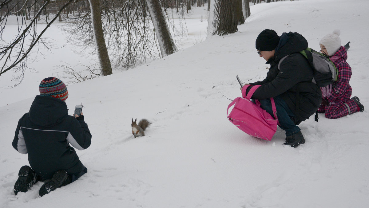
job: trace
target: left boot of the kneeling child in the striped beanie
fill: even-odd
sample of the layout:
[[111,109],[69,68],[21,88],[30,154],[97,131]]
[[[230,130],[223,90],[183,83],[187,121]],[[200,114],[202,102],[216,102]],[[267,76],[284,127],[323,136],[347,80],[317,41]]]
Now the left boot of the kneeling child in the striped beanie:
[[27,192],[33,184],[37,182],[37,174],[30,166],[23,166],[19,169],[18,180],[14,184],[14,194]]

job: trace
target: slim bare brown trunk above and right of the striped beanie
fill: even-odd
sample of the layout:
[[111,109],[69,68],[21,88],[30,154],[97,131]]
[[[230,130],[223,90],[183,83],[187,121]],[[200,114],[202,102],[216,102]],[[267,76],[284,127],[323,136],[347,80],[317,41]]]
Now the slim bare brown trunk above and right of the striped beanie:
[[103,27],[101,24],[101,11],[100,1],[89,0],[91,7],[91,22],[94,30],[94,39],[96,42],[97,52],[99,55],[101,74],[107,76],[113,74],[110,65],[110,59],[108,56],[108,50],[106,48]]

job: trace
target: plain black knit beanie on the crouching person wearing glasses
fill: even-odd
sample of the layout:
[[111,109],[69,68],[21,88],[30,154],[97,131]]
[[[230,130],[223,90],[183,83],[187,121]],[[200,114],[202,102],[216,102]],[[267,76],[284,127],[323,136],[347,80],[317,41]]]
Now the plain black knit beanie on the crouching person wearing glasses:
[[259,51],[273,51],[278,43],[279,36],[276,31],[265,29],[256,38],[255,46]]

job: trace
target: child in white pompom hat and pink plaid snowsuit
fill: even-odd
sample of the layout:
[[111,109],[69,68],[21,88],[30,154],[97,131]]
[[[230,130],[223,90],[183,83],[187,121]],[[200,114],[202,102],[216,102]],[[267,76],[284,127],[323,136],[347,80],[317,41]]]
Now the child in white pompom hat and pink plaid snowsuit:
[[339,30],[325,35],[319,42],[322,53],[329,56],[338,69],[338,79],[327,87],[321,87],[323,101],[318,108],[318,113],[324,113],[326,118],[341,118],[355,112],[363,112],[364,106],[358,97],[351,97],[352,88],[351,67],[346,62],[347,51],[341,46]]

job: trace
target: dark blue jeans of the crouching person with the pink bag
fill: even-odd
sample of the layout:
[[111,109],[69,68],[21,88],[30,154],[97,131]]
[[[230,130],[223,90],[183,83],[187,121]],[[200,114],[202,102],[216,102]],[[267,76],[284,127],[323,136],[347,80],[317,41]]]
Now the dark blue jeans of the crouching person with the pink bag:
[[[272,103],[270,99],[259,100],[261,107],[266,110],[270,115],[273,116]],[[301,131],[299,126],[295,125],[292,121],[291,117],[296,117],[291,109],[288,107],[286,101],[284,101],[281,97],[274,97],[274,103],[277,109],[277,117],[279,121],[279,127],[286,131],[286,136],[291,136]]]

